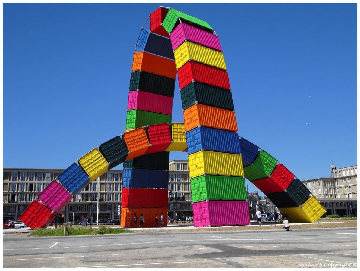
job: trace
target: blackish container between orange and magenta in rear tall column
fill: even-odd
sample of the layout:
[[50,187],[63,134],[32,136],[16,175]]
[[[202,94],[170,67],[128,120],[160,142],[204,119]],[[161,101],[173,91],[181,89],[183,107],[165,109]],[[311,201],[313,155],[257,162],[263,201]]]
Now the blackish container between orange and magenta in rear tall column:
[[174,97],[175,79],[143,71],[131,72],[130,90],[138,89]]

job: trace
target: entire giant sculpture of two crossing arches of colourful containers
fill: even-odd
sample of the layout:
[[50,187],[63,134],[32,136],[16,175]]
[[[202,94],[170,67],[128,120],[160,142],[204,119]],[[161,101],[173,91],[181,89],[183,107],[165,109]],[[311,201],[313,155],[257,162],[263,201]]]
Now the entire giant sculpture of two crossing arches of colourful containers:
[[[219,38],[204,20],[160,7],[141,29],[134,53],[126,132],[86,153],[53,180],[19,217],[46,227],[71,199],[124,163],[121,226],[167,215],[170,151],[187,151],[194,225],[248,225],[244,178],[287,214],[314,222],[325,209],[283,164],[240,138]],[[176,73],[184,122],[171,123]],[[165,219],[166,225],[166,219]]]

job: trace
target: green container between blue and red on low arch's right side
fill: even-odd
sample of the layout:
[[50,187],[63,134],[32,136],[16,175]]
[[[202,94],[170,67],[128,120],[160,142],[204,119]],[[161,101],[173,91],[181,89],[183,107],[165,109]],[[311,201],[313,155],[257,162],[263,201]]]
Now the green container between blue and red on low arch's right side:
[[266,178],[273,173],[278,160],[261,150],[252,165],[244,167],[244,176],[253,182],[262,178]]

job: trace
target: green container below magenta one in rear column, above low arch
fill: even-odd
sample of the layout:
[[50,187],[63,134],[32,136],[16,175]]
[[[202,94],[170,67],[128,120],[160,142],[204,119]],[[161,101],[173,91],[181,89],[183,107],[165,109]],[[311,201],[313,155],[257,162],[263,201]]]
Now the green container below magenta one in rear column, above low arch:
[[126,129],[134,129],[146,125],[171,122],[171,115],[154,113],[143,110],[127,110]]

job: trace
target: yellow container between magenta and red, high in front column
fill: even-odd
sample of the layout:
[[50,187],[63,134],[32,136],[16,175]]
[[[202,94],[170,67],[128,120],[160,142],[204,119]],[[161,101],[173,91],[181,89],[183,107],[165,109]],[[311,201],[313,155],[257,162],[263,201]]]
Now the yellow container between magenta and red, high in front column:
[[179,69],[189,59],[226,70],[222,52],[185,41],[174,52],[176,68]]

